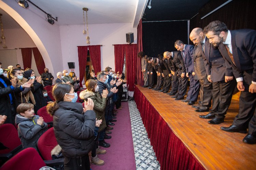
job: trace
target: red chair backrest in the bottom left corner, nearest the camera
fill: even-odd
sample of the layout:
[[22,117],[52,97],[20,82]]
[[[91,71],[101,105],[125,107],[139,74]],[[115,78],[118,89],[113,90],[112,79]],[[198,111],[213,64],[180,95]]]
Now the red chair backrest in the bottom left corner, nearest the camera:
[[43,159],[34,148],[27,148],[20,151],[9,159],[0,170],[20,169],[35,170],[46,166]]

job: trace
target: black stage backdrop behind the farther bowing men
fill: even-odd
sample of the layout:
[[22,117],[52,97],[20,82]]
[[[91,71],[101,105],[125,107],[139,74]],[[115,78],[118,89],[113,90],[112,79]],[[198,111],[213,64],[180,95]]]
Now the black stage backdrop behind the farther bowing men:
[[150,57],[165,51],[177,51],[177,39],[187,44],[187,21],[142,22],[143,51]]

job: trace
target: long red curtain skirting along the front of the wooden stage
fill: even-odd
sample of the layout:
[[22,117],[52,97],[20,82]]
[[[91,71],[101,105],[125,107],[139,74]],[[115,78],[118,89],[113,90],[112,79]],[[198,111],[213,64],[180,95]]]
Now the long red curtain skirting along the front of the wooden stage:
[[134,101],[161,169],[204,169],[137,86]]

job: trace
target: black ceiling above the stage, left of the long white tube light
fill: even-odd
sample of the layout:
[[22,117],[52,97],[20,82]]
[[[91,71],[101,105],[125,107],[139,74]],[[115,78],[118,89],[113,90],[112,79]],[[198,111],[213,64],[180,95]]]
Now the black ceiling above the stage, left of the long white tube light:
[[[189,20],[209,1],[210,0],[151,0],[152,8],[145,8],[142,21]],[[149,2],[150,0],[148,0],[148,3]]]

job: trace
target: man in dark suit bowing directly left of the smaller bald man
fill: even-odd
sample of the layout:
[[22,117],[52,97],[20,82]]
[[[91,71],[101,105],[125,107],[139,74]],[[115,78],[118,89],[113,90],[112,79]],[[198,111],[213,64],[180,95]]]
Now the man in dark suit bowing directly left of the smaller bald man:
[[[161,76],[163,77],[163,89],[160,90],[160,92],[167,93],[171,86],[171,78],[169,77],[169,74],[171,73],[170,69],[167,66],[167,62],[164,60],[163,55],[158,55],[158,62],[159,62],[159,72]],[[165,64],[163,64],[165,62]]]

